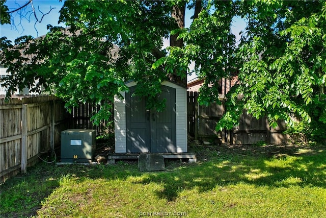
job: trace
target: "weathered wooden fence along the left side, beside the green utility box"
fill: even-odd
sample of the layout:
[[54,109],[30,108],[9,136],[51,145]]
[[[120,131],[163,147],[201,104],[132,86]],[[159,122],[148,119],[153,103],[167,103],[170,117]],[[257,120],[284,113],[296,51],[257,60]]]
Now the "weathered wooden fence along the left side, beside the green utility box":
[[1,182],[34,165],[38,154],[60,148],[69,114],[54,96],[0,99]]

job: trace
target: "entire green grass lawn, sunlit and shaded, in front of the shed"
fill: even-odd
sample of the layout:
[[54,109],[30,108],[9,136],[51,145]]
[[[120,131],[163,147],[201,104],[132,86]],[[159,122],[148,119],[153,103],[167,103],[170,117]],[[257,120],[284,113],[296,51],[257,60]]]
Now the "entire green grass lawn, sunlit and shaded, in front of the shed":
[[326,217],[326,147],[197,146],[143,173],[40,163],[1,185],[1,217]]

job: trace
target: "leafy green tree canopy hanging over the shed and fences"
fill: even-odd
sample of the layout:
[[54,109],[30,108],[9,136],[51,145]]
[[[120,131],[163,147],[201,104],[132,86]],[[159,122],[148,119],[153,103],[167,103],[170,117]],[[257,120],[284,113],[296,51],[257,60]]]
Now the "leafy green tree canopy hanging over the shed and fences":
[[[189,28],[186,7],[194,9]],[[5,23],[3,4],[1,10]],[[230,32],[235,16],[247,22],[239,42]],[[66,1],[59,21],[69,31],[49,27],[46,36],[23,36],[15,46],[1,39],[8,94],[42,85],[71,108],[112,101],[135,80],[136,94],[160,110],[160,83],[168,77],[184,83],[194,61],[192,73],[205,80],[200,104],[220,102],[218,81],[238,72],[217,129],[231,129],[243,109],[267,116],[272,126],[278,119],[290,123],[291,115],[326,123],[324,1]],[[107,107],[97,116],[105,117]]]

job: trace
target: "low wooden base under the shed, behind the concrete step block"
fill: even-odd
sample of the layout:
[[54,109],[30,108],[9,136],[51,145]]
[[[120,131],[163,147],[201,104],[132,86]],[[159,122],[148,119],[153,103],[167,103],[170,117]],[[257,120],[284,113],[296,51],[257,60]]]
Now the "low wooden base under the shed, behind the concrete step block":
[[[146,153],[145,153],[146,154]],[[164,159],[188,159],[189,163],[196,163],[197,156],[194,153],[155,153],[162,155]],[[140,154],[117,153],[107,155],[107,163],[114,164],[115,160],[138,159]]]

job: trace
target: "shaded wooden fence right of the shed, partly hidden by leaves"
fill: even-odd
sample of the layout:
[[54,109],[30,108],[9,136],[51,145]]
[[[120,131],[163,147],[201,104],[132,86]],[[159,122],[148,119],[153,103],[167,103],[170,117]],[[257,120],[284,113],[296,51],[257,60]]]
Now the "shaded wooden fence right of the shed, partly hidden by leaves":
[[243,111],[239,125],[232,130],[216,132],[215,127],[222,117],[224,105],[211,104],[200,106],[197,103],[198,92],[187,92],[188,134],[201,140],[217,140],[229,144],[256,144],[266,142],[270,144],[286,143],[289,136],[283,134],[285,122],[279,120],[277,128],[269,127],[264,117],[256,119]]

